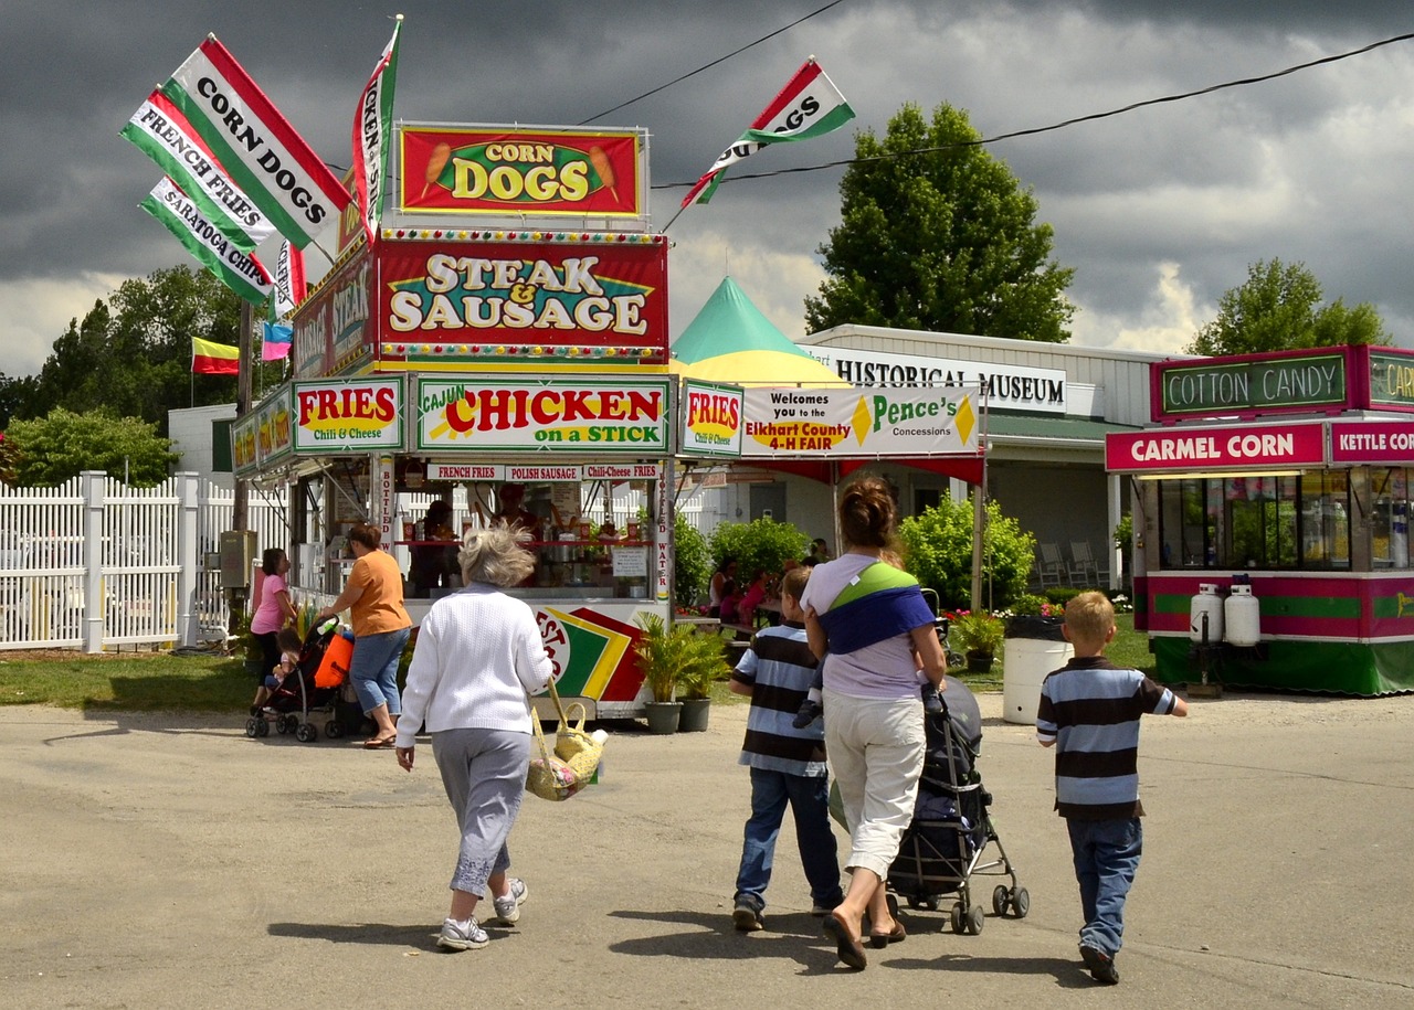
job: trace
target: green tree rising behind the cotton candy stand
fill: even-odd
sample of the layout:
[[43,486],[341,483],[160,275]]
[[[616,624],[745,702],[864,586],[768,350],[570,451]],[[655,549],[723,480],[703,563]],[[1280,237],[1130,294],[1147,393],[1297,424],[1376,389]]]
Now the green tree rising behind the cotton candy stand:
[[1247,267],[1247,283],[1217,299],[1217,318],[1198,331],[1186,350],[1213,356],[1254,355],[1393,342],[1369,302],[1349,308],[1339,298],[1322,305],[1321,298],[1321,283],[1304,263],[1257,260]]

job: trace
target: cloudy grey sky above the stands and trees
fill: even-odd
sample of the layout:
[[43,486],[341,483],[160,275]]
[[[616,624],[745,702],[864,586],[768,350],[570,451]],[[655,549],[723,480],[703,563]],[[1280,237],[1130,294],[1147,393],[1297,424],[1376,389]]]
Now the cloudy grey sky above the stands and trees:
[[[117,131],[206,32],[327,161],[403,13],[396,116],[642,126],[653,223],[814,54],[857,112],[740,172],[848,158],[912,102],[986,137],[1271,73],[1414,31],[1407,0],[7,0],[0,35],[0,372],[38,370],[120,281],[191,260],[137,203],[157,170]],[[1305,263],[1414,346],[1414,41],[990,147],[1075,267],[1073,342],[1178,350],[1247,266]],[[669,229],[676,335],[730,273],[788,335],[823,278],[840,171],[732,184]],[[269,250],[262,250],[269,251]],[[273,257],[269,257],[273,259]],[[312,254],[311,261],[318,256]]]

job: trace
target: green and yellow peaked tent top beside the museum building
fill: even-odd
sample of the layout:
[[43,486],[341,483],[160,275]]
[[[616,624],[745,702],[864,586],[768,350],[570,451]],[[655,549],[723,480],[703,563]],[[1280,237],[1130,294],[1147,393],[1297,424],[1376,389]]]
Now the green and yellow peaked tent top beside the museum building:
[[844,386],[761,314],[737,281],[724,277],[673,342],[674,370],[707,381],[747,386]]

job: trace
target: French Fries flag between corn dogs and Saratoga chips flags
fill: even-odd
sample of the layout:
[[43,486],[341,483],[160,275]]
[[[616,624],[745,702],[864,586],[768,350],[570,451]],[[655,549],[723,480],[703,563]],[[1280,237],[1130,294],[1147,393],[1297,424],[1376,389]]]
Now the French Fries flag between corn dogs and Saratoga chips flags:
[[120,134],[175,179],[206,220],[240,251],[249,253],[274,234],[270,219],[230,181],[187,117],[161,92],[147,96]]

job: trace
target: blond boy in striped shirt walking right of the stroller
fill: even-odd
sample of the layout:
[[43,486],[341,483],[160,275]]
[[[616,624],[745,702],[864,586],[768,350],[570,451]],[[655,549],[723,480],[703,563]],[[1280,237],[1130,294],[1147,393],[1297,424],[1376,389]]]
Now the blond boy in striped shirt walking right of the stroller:
[[1080,883],[1080,958],[1090,978],[1116,985],[1124,897],[1144,849],[1140,816],[1140,716],[1188,715],[1188,702],[1137,670],[1104,658],[1114,607],[1080,593],[1065,607],[1075,658],[1041,684],[1036,740],[1056,749],[1056,811],[1066,819]]

